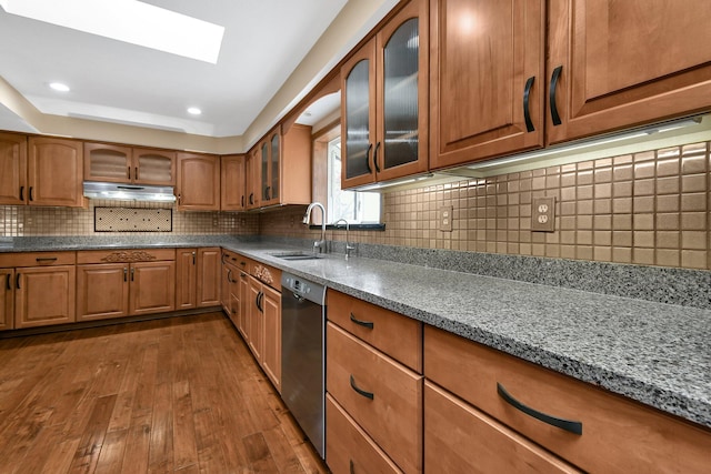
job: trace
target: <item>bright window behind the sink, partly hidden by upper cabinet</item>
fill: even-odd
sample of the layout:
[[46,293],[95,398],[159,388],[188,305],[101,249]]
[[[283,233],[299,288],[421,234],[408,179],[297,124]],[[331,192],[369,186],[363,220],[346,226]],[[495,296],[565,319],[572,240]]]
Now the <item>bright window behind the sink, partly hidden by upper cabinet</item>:
[[328,205],[327,221],[346,219],[350,224],[380,223],[381,195],[374,192],[341,189],[341,138],[328,142]]

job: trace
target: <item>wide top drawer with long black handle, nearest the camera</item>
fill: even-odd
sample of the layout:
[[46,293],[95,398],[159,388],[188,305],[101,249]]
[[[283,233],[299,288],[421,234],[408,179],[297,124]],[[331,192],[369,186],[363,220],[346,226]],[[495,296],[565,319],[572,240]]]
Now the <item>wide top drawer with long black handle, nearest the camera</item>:
[[[584,471],[708,471],[710,431],[431,326],[424,329],[424,374]],[[497,384],[529,407],[580,422],[582,434],[514,409]]]

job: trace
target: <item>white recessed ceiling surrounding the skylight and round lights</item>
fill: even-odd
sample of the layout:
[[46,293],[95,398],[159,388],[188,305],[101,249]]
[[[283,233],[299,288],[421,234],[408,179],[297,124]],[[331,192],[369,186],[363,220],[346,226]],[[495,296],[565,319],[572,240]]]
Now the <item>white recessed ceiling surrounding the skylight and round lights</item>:
[[[348,0],[143,1],[226,27],[218,63],[16,17],[0,8],[0,77],[46,114],[208,137],[242,135]],[[53,81],[71,91],[51,90]],[[202,115],[188,114],[188,107],[202,109]],[[0,128],[19,128],[21,120],[6,112],[0,107]]]

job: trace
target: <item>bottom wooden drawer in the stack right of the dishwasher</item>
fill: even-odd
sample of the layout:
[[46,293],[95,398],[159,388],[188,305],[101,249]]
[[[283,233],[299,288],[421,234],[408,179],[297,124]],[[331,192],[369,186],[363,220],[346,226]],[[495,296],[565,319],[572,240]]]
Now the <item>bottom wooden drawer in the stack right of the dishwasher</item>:
[[333,474],[402,473],[330,395],[326,418],[326,462]]

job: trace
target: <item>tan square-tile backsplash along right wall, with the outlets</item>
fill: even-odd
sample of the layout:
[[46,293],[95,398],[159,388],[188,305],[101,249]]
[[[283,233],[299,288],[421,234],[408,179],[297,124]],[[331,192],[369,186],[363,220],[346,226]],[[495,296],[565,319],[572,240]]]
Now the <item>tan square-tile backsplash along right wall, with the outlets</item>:
[[[384,232],[354,242],[711,269],[709,143],[383,194]],[[531,231],[531,202],[555,198],[555,231]],[[438,210],[453,208],[451,232]],[[266,213],[262,234],[311,239],[303,210]],[[343,231],[328,239],[343,240]]]

